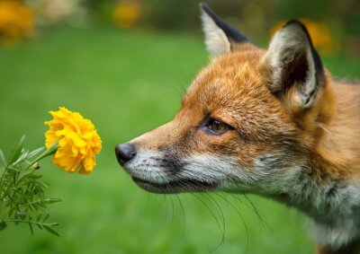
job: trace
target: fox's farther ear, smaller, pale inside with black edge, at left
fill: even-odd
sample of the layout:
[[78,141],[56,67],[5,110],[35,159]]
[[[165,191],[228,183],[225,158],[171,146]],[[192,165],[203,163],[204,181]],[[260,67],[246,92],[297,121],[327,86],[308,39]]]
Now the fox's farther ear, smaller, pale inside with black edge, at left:
[[237,44],[248,43],[245,35],[223,21],[208,4],[201,3],[202,30],[205,44],[212,57],[229,53]]

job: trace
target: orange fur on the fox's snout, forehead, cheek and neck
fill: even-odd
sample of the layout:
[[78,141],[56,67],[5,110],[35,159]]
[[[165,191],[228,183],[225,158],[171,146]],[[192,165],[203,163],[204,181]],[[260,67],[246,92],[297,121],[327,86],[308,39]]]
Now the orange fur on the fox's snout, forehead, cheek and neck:
[[[269,82],[268,66],[258,65],[264,54],[262,49],[247,47],[245,51],[216,58],[194,80],[175,119],[135,142],[141,140],[140,147],[144,149],[158,149],[175,143],[192,132],[200,119],[211,112],[212,118],[238,127],[244,136],[242,144],[236,145],[236,155],[246,168],[250,168],[259,154],[271,151],[275,146],[272,136],[288,133],[302,141],[299,144],[301,147],[293,149],[306,147],[311,150],[314,168],[321,169],[314,172],[317,175],[357,177],[360,167],[359,87],[335,83],[327,74],[327,83],[317,106],[310,111],[299,112],[289,105],[291,92],[281,102],[266,87]],[[239,120],[238,116],[243,120]],[[231,138],[230,134],[216,137],[216,143],[225,145]],[[221,153],[220,150],[211,150],[215,142],[213,136],[201,134],[198,139],[201,139],[201,144],[188,144],[188,150]],[[251,144],[247,143],[247,139],[265,143]]]

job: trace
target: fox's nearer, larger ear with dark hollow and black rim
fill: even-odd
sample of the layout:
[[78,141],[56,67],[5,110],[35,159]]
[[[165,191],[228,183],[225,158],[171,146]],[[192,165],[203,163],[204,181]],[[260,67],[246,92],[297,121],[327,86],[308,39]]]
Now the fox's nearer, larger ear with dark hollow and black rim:
[[280,97],[290,96],[292,105],[311,108],[319,97],[321,86],[325,85],[325,74],[302,22],[287,22],[275,33],[266,60],[272,71],[270,90]]

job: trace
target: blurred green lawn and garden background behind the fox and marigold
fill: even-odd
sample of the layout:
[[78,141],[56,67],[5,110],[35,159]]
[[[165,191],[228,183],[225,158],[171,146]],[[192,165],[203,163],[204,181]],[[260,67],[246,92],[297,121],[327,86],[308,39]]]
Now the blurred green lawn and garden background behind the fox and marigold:
[[[265,46],[287,18],[310,27],[336,77],[360,76],[358,1],[208,1]],[[322,3],[321,3],[322,2]],[[41,164],[55,237],[0,231],[1,253],[311,253],[306,218],[260,197],[153,195],[116,162],[114,146],[170,120],[208,55],[198,1],[0,0],[0,147],[44,143],[48,111],[93,120],[103,138],[90,176]],[[356,9],[357,8],[357,9]]]

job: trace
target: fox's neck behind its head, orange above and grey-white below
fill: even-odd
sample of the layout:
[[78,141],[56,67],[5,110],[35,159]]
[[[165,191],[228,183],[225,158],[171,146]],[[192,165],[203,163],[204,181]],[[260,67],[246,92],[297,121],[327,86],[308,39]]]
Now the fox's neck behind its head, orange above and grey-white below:
[[343,85],[336,89],[343,91],[336,92],[334,117],[320,126],[319,144],[287,180],[284,193],[273,197],[309,215],[321,244],[339,247],[360,233],[360,90],[356,94],[353,86]]

